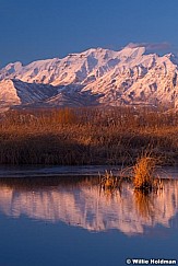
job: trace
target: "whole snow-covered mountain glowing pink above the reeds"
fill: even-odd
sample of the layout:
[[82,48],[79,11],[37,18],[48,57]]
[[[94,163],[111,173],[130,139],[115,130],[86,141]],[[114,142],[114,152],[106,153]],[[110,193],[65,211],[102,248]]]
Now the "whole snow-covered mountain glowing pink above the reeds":
[[0,103],[9,105],[178,105],[178,58],[145,54],[144,47],[119,51],[96,48],[27,66],[0,70]]

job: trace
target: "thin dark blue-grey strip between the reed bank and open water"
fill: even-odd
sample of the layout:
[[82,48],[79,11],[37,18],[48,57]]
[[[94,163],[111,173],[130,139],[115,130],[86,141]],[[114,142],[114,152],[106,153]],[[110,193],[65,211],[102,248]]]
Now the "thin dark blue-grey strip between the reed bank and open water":
[[[104,175],[108,171],[119,176],[121,165],[108,166],[108,165],[81,165],[81,166],[54,166],[54,165],[0,165],[0,178],[23,178],[23,177],[79,177],[79,176],[93,176],[96,177],[99,174]],[[157,175],[161,178],[178,178],[177,166],[163,166],[157,169]]]

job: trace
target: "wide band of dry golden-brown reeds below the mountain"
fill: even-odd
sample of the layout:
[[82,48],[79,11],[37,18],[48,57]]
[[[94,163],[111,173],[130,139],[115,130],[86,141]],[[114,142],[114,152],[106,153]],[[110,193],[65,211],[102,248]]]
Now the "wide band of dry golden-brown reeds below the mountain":
[[165,164],[178,163],[178,113],[61,108],[0,117],[0,164],[133,164],[149,146]]

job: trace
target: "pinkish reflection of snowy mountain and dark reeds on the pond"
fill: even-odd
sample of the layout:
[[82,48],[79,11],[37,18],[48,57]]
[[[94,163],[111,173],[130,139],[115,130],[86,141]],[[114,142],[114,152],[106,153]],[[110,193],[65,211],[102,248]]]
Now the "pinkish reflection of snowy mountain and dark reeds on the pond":
[[146,227],[178,224],[178,180],[164,180],[156,194],[134,192],[123,182],[120,189],[103,190],[96,177],[1,178],[0,211],[48,222],[63,221],[88,231],[118,229],[143,234]]

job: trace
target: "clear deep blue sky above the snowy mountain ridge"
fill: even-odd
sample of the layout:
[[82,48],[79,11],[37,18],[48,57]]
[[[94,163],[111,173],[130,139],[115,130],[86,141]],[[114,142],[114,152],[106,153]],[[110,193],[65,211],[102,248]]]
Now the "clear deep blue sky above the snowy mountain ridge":
[[178,0],[0,0],[0,67],[129,43],[177,50]]

